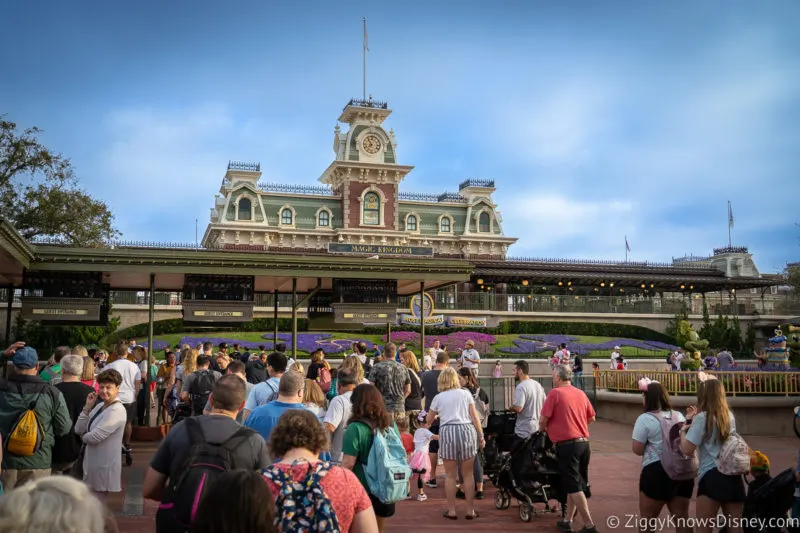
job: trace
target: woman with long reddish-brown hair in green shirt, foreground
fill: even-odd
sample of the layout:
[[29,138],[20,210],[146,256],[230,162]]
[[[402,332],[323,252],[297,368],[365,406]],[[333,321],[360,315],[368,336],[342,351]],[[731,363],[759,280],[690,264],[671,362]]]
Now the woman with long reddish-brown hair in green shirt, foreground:
[[[400,431],[398,431],[397,425],[392,422],[392,416],[386,410],[383,396],[381,396],[375,385],[359,385],[353,389],[350,402],[353,407],[350,411],[350,420],[347,422],[347,430],[345,430],[342,441],[342,466],[352,470],[364,486],[377,517],[378,531],[384,533],[386,531],[386,520],[394,516],[395,504],[394,502],[382,501],[377,494],[373,494],[370,491],[367,465],[369,460],[374,458],[371,452],[378,432],[383,432],[384,435],[391,433],[392,437],[396,437],[396,440],[401,442],[400,451],[403,457],[406,456],[405,449],[402,448]],[[408,480],[410,478],[409,471],[408,478],[401,480],[405,486],[406,494],[408,493]]]

